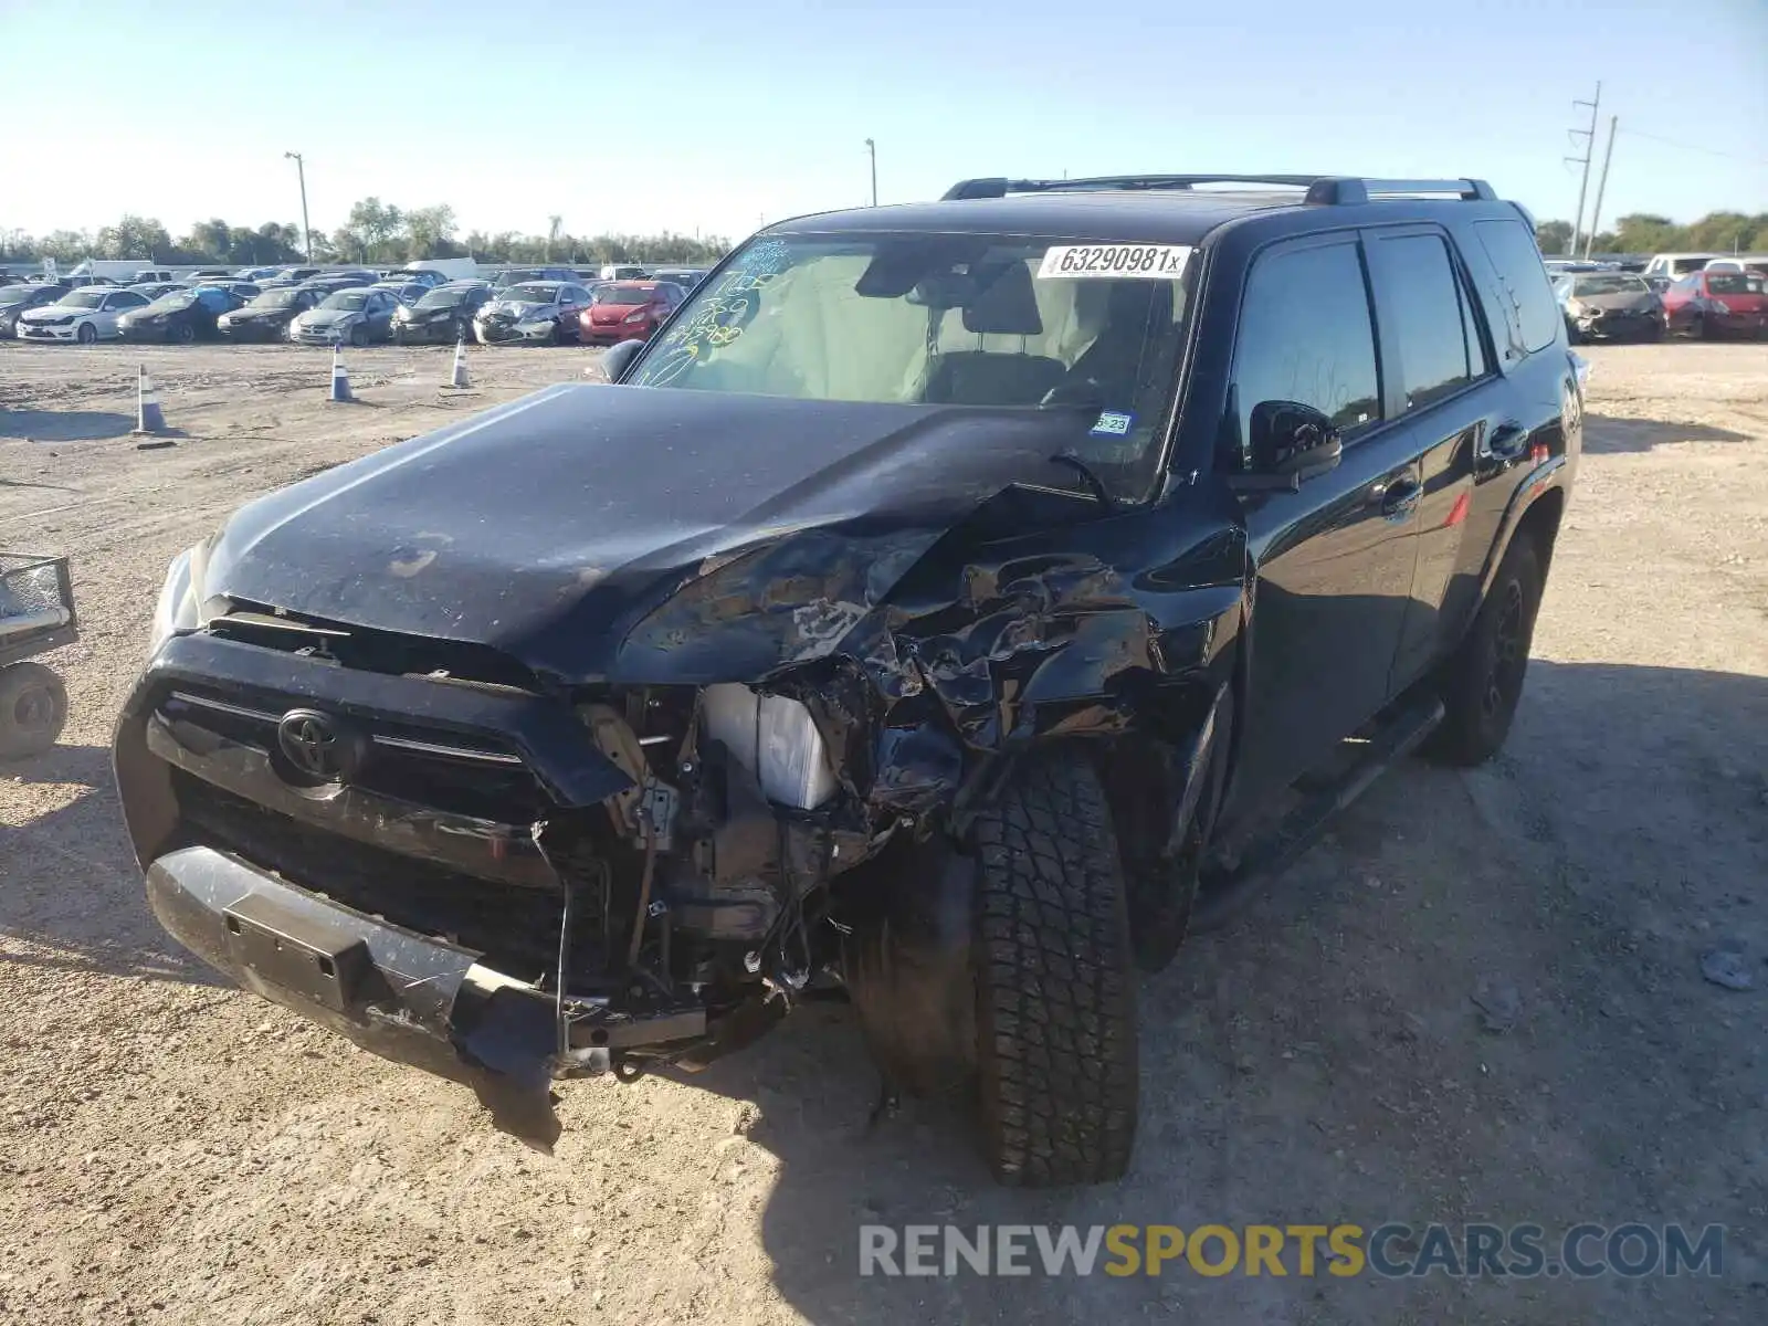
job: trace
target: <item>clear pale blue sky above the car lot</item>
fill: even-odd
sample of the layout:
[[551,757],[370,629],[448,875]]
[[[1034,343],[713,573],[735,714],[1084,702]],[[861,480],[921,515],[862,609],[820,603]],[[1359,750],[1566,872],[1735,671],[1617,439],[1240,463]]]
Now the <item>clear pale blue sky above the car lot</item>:
[[1598,78],[1605,216],[1768,210],[1768,0],[0,0],[0,226],[34,233],[299,221],[293,149],[315,230],[378,194],[463,232],[743,235],[866,202],[866,138],[884,202],[1321,170],[1570,217]]

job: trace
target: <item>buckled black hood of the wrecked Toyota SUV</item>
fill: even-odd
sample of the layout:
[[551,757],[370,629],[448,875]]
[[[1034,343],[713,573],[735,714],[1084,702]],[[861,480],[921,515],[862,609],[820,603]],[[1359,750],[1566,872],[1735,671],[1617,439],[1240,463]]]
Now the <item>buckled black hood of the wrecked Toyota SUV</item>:
[[[483,644],[564,681],[753,679],[831,652],[1002,488],[1071,486],[1048,456],[1086,428],[1068,410],[550,387],[253,502],[205,594]],[[762,642],[739,626],[755,613],[785,628]]]

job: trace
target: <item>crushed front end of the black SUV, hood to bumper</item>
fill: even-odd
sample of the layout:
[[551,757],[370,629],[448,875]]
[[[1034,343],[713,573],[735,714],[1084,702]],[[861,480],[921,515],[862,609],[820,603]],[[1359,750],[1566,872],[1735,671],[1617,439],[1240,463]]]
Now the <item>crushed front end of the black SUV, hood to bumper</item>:
[[[571,463],[585,419],[629,437],[638,405],[693,438],[746,417],[601,392],[502,417]],[[852,997],[889,1082],[962,1075],[965,817],[1031,746],[1195,727],[1245,537],[1197,490],[1181,514],[1027,483],[1066,428],[1041,415],[741,410],[741,465],[697,444],[594,520],[543,467],[488,463],[493,412],[180,560],[115,743],[164,926],[536,1140],[553,1080],[702,1066],[819,990]],[[845,424],[847,463],[799,456],[806,410]],[[732,493],[757,456],[804,476]],[[469,537],[486,504],[527,516]]]

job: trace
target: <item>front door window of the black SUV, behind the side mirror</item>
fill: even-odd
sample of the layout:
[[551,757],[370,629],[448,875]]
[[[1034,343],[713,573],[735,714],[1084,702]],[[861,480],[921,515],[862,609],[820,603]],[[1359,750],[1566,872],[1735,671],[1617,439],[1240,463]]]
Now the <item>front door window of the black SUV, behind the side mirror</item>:
[[1259,401],[1299,401],[1351,431],[1381,419],[1376,334],[1356,242],[1271,253],[1246,279],[1234,350],[1241,446]]

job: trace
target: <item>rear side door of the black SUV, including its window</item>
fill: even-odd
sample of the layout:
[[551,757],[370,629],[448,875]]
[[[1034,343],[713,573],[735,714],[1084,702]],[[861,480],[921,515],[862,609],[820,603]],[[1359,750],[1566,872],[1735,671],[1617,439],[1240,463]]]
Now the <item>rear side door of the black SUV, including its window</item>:
[[1395,226],[1363,235],[1376,309],[1388,412],[1418,460],[1416,560],[1390,690],[1398,693],[1460,638],[1467,603],[1448,603],[1460,564],[1482,456],[1524,446],[1512,391],[1496,371],[1462,255],[1436,226]]

